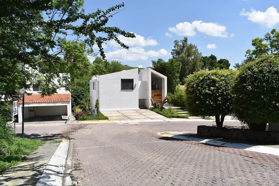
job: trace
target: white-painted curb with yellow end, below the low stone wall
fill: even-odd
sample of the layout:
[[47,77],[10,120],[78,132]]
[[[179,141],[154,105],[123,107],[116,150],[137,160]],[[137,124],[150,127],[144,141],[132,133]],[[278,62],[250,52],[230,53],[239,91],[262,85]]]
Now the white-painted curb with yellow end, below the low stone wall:
[[[185,133],[186,132],[184,132],[184,134]],[[158,132],[157,134],[159,136],[164,136],[164,137],[176,138],[176,139],[181,139],[181,140],[190,140],[190,141],[195,141],[195,142],[205,143],[205,144],[210,144],[210,145],[236,148],[236,149],[248,150],[248,151],[252,151],[252,152],[260,152],[260,153],[279,156],[279,148],[274,148],[274,147],[268,147],[268,146],[262,146],[262,145],[249,145],[249,144],[243,144],[243,143],[231,143],[231,142],[223,142],[223,141],[219,141],[219,140],[210,140],[210,139],[176,135],[176,134],[183,134],[183,132]]]

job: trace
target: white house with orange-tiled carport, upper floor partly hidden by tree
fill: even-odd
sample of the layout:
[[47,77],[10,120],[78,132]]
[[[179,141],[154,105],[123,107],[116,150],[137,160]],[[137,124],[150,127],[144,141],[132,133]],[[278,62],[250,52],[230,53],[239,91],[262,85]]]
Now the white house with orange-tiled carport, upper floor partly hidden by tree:
[[[65,75],[65,74],[60,74]],[[70,77],[69,77],[70,78]],[[57,83],[55,79],[54,83]],[[23,90],[24,91],[24,90]],[[24,119],[34,116],[64,116],[63,119],[71,117],[71,93],[64,88],[58,89],[56,94],[50,96],[41,96],[39,91],[42,91],[39,85],[32,85],[30,90],[25,90],[24,100]],[[19,101],[18,113],[22,113],[22,100]],[[19,123],[22,122],[22,114],[19,114]]]

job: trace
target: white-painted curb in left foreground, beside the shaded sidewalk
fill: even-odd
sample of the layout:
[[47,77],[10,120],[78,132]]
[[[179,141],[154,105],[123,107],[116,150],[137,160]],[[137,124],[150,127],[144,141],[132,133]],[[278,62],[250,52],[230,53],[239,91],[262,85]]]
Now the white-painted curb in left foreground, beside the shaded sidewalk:
[[62,140],[50,158],[36,186],[62,186],[70,142]]

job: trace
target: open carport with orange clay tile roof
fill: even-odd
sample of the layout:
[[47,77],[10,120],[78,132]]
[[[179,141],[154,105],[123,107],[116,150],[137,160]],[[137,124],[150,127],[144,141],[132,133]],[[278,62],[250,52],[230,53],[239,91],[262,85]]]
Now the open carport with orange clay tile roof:
[[[71,117],[71,94],[54,94],[42,97],[40,94],[25,96],[24,121],[69,120]],[[22,113],[22,101],[19,102]],[[22,116],[19,115],[19,122]]]

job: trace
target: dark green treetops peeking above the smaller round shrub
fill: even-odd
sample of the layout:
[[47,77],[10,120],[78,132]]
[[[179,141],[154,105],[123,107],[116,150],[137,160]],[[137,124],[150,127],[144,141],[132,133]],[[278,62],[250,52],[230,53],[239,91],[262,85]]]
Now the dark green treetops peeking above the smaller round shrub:
[[202,56],[201,61],[203,63],[202,70],[214,70],[214,69],[229,69],[230,63],[227,59],[219,59],[211,54],[210,56]]

